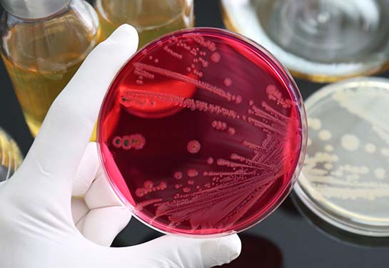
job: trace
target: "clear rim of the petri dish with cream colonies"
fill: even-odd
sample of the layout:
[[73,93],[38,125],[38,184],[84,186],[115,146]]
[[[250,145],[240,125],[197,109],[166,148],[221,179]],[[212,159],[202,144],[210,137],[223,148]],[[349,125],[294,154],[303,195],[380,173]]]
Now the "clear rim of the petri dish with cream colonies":
[[[329,84],[327,86],[323,86],[321,89],[313,93],[305,100],[305,109],[309,111],[310,109],[315,109],[318,102],[325,98],[326,96],[339,91],[339,88],[342,88],[344,84],[358,84],[361,82],[366,86],[374,86],[374,85],[384,85],[380,86],[380,89],[386,89],[389,93],[389,79],[385,79],[383,77],[358,77],[353,79],[345,79],[335,84]],[[350,84],[351,83],[351,84]],[[305,175],[303,171],[300,173],[300,177],[305,179]],[[326,207],[320,206],[320,202],[315,202],[316,200],[311,197],[308,192],[305,192],[303,187],[300,185],[300,178],[295,183],[293,188],[297,197],[305,204],[310,211],[312,211],[316,216],[320,219],[323,219],[325,222],[332,224],[334,227],[338,227],[339,229],[343,229],[347,232],[351,232],[353,234],[360,234],[368,237],[389,237],[389,224],[388,225],[372,225],[365,224],[363,222],[355,222],[350,220],[349,217],[345,217],[345,215],[338,213],[336,209],[325,209]],[[329,206],[328,206],[329,207]],[[333,207],[338,207],[333,205]],[[341,207],[339,207],[342,209]],[[344,210],[344,209],[343,209]]]

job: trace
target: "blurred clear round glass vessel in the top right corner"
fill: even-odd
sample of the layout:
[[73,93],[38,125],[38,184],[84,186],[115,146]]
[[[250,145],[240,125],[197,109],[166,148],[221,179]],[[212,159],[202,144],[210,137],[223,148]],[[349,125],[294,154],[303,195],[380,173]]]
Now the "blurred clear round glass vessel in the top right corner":
[[221,0],[226,27],[317,82],[389,67],[388,0]]

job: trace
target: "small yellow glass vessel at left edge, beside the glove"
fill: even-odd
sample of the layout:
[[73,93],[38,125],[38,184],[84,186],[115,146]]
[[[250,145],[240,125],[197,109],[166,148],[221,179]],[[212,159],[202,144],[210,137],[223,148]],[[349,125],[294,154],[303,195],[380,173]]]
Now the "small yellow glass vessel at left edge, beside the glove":
[[21,152],[14,139],[0,127],[0,182],[4,182],[14,174],[20,166]]

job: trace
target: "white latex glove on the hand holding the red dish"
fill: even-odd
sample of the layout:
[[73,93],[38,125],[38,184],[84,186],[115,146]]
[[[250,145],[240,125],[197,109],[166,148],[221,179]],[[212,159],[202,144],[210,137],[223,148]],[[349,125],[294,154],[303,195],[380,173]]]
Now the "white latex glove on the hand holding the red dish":
[[[0,184],[1,268],[194,268],[238,257],[237,235],[104,247],[131,215],[111,192],[96,144],[88,141],[108,86],[137,45],[136,30],[123,25],[91,52],[54,101],[19,170]],[[72,194],[79,196],[73,202]]]

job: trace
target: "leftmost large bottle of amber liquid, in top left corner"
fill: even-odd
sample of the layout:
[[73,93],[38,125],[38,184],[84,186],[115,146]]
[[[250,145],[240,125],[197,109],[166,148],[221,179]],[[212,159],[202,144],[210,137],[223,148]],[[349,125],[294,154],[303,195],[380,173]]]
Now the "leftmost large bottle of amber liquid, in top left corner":
[[84,0],[0,2],[1,57],[35,137],[51,103],[101,41],[98,16]]

